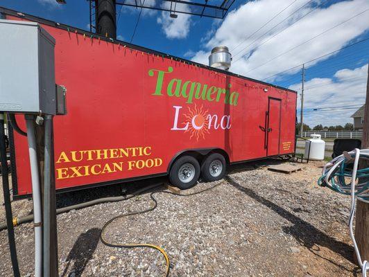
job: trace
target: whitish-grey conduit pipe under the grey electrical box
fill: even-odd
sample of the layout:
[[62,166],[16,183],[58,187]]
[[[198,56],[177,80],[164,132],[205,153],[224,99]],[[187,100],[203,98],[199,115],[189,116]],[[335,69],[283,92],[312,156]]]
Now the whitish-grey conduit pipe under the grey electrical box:
[[32,199],[35,229],[35,277],[42,276],[42,204],[35,136],[35,118],[26,114],[29,159],[31,164]]

